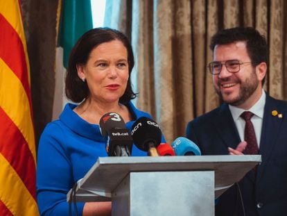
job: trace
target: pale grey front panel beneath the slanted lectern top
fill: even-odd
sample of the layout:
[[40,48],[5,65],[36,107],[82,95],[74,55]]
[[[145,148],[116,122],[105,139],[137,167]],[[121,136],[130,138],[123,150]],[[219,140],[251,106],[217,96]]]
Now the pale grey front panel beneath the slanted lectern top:
[[214,172],[131,172],[112,193],[113,216],[213,216]]

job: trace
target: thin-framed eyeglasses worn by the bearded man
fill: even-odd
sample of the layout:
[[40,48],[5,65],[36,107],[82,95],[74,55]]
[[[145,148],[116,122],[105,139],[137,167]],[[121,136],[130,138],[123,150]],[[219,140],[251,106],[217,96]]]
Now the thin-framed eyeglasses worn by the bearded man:
[[[248,62],[251,63],[251,62]],[[247,64],[241,63],[239,60],[227,60],[225,62],[212,62],[208,64],[209,72],[213,75],[220,74],[223,65],[225,65],[226,69],[230,73],[237,73],[240,71],[240,65]]]

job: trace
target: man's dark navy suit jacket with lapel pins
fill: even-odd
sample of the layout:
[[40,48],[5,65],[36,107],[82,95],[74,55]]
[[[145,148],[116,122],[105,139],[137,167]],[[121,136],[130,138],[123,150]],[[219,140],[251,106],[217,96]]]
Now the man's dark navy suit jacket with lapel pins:
[[[273,116],[272,110],[281,115]],[[227,147],[236,149],[241,141],[226,103],[189,122],[186,138],[198,144],[202,155],[226,155]],[[287,215],[287,103],[268,94],[259,154],[261,165],[219,197],[216,215],[244,215],[243,207],[246,216]]]

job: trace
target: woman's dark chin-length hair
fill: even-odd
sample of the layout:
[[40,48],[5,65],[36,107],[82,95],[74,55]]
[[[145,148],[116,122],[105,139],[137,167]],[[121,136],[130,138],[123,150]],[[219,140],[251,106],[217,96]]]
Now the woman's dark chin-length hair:
[[[71,50],[69,56],[69,63],[67,68],[67,75],[65,80],[65,93],[68,99],[73,102],[80,103],[83,99],[89,96],[89,88],[87,82],[83,82],[78,77],[77,65],[85,65],[89,59],[89,54],[98,45],[112,40],[119,40],[123,43],[128,51],[128,70],[129,75],[134,67],[134,53],[132,52],[132,46],[128,38],[112,28],[93,28],[87,31],[76,43]],[[123,96],[119,99],[120,103],[128,103],[131,99],[137,97],[132,91],[132,85],[130,83],[130,76],[128,78],[127,88],[123,93]]]

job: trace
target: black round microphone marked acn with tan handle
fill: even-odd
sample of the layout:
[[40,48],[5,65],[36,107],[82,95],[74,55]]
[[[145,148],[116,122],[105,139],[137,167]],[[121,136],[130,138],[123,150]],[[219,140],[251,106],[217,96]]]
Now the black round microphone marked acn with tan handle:
[[134,144],[149,156],[159,156],[155,149],[162,140],[162,131],[159,125],[148,117],[140,117],[132,125]]

